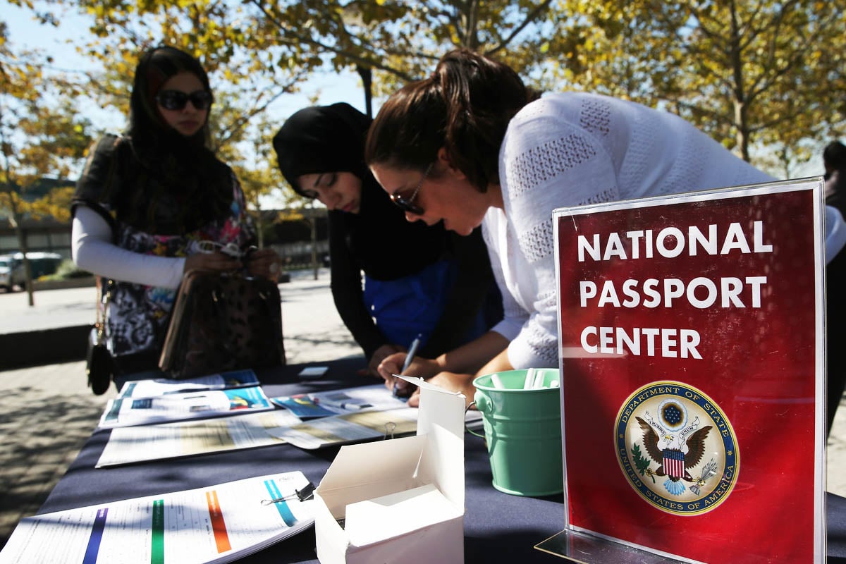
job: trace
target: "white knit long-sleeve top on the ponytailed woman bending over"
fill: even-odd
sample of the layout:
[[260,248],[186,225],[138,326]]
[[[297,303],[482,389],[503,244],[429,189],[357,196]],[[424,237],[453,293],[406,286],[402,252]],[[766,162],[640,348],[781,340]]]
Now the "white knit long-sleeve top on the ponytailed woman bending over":
[[[545,96],[511,120],[499,179],[504,209],[482,225],[503,293],[493,331],[510,340],[518,369],[558,366],[552,210],[774,180],[676,115],[581,92]],[[846,230],[830,211],[833,257]]]

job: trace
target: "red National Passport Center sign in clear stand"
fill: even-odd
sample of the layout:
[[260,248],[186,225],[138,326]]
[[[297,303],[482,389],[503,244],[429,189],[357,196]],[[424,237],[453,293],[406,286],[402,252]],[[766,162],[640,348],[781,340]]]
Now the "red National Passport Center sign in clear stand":
[[554,214],[569,530],[824,560],[821,182]]

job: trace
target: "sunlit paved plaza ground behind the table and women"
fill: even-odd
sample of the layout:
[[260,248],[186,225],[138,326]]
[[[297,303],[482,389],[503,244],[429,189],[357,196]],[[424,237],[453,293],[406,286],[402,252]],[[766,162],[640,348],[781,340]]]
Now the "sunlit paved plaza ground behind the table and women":
[[[299,271],[279,286],[288,362],[320,362],[360,354],[332,303],[328,271]],[[0,333],[91,322],[93,288],[0,292]],[[60,325],[61,324],[61,325]],[[0,351],[2,354],[3,351]],[[20,517],[34,514],[91,435],[114,391],[94,396],[85,363],[0,371],[0,547]],[[827,448],[827,490],[846,496],[846,402]]]

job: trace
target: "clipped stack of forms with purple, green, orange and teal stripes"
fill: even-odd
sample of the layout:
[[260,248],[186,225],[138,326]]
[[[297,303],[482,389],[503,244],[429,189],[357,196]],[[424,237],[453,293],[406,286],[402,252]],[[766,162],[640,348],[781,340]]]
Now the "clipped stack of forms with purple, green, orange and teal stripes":
[[301,472],[25,517],[0,563],[230,562],[314,523]]

